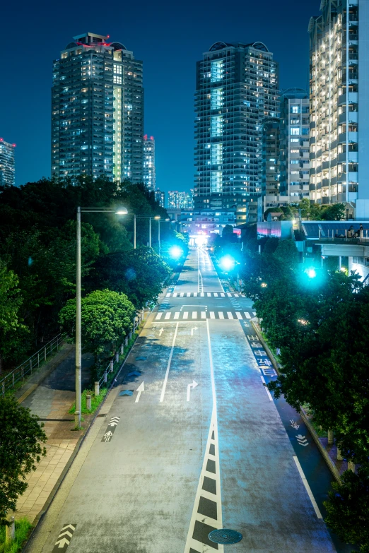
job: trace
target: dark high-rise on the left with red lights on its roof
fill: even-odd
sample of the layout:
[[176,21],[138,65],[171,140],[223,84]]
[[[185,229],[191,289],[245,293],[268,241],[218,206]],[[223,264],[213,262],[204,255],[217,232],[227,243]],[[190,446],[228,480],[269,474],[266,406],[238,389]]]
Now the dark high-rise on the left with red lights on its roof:
[[54,61],[52,176],[144,179],[142,61],[109,36],[74,37]]

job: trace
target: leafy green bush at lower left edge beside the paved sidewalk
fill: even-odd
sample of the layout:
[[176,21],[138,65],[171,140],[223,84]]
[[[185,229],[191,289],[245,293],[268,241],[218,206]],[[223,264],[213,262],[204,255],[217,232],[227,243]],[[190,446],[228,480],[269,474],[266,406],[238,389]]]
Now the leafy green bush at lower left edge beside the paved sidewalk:
[[8,511],[15,511],[18,496],[25,492],[26,475],[46,455],[40,442],[47,440],[39,418],[18,405],[13,396],[0,398],[0,525]]

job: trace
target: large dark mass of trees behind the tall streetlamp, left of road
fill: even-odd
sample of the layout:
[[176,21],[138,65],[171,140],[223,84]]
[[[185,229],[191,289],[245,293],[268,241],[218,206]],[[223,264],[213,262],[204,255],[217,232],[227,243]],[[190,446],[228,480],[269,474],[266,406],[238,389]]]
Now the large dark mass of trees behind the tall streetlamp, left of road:
[[[59,333],[59,311],[76,294],[76,208],[124,206],[129,213],[165,218],[144,185],[123,182],[119,187],[105,178],[83,178],[76,185],[42,179],[25,186],[0,187],[0,356],[5,368],[23,359],[27,352]],[[125,292],[136,307],[155,299],[167,274],[167,266],[153,251],[141,254],[148,242],[148,219],[136,220],[133,252],[133,217],[115,213],[83,213],[81,224],[81,274],[83,294],[109,287]],[[169,236],[168,224],[161,225],[161,238]],[[152,234],[153,248],[158,237]],[[128,253],[129,252],[129,253]],[[126,272],[136,271],[136,282],[120,285],[105,281],[100,274],[105,261],[126,258]],[[151,278],[151,289],[141,295],[142,258]],[[139,268],[139,270],[138,270]],[[135,286],[136,284],[136,286]],[[151,297],[151,292],[153,296]]]

